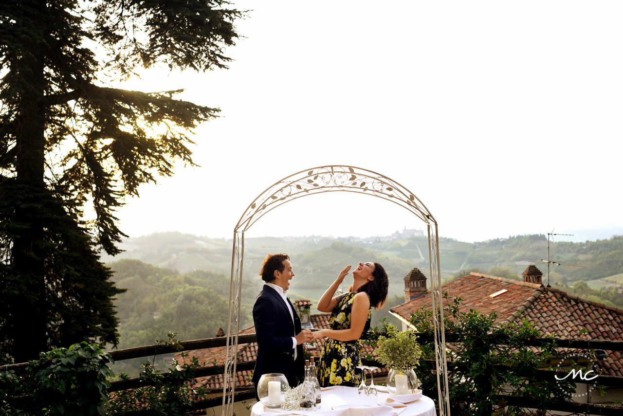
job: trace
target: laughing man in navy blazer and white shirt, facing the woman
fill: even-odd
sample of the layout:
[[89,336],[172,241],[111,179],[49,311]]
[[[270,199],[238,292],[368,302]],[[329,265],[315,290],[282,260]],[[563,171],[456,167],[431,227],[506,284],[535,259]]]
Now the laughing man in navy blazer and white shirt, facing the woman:
[[303,381],[303,343],[312,341],[312,331],[301,331],[301,320],[287,297],[290,280],[294,277],[290,257],[284,253],[267,255],[260,276],[264,288],[253,306],[258,345],[253,372],[256,397],[262,374],[280,372],[288,379],[290,387]]

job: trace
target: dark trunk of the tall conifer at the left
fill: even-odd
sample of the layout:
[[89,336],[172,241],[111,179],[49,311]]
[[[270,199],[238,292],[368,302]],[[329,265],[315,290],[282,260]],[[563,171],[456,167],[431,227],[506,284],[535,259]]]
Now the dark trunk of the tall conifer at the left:
[[[32,22],[45,19],[45,2],[39,3]],[[37,19],[39,17],[39,19]],[[43,30],[37,30],[44,35]],[[38,40],[40,42],[40,40]],[[31,40],[37,42],[37,40]],[[44,56],[40,44],[28,45],[31,55],[23,55],[16,70],[24,73],[24,86],[19,100],[20,128],[16,135],[16,179],[24,184],[24,189],[45,189],[45,107],[43,104],[45,77]],[[39,192],[36,192],[39,193]],[[21,206],[15,207],[14,221],[24,225],[13,241],[12,264],[14,270],[27,279],[27,290],[34,295],[34,302],[16,305],[17,322],[14,328],[19,331],[14,339],[14,360],[25,362],[37,359],[39,352],[47,351],[47,288],[45,285],[45,253],[43,221],[40,215],[38,196],[24,195]],[[29,201],[30,200],[30,201]]]

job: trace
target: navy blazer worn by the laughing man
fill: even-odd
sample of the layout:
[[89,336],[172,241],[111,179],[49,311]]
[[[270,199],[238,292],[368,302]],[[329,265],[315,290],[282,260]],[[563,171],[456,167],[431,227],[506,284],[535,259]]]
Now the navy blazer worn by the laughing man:
[[[288,300],[283,298],[272,287],[264,285],[253,305],[253,321],[257,336],[257,361],[253,372],[253,382],[257,394],[257,383],[262,374],[280,372],[285,375],[290,387],[296,387],[303,380],[305,373],[305,357],[303,345],[297,346],[297,361],[294,361],[292,337],[301,331],[301,319]],[[292,308],[292,316],[287,307]]]

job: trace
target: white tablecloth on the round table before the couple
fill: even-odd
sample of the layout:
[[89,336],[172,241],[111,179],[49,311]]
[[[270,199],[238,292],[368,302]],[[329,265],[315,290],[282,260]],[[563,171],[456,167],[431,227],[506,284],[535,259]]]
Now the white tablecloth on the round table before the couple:
[[[269,409],[262,402],[257,402],[251,408],[251,416],[281,416],[281,415],[306,415],[306,416],[437,416],[435,404],[429,397],[406,404],[406,407],[390,407],[376,405],[356,409],[331,410],[331,407],[349,404],[359,404],[357,387],[326,387],[322,390],[322,408],[316,412],[307,410],[293,410],[285,412],[281,409]],[[383,404],[389,394],[379,392],[378,403]]]

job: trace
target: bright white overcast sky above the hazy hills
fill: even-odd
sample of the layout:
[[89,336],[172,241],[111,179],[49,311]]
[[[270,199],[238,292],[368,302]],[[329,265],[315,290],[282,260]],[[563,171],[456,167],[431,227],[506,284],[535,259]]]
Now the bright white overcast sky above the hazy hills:
[[[256,196],[325,165],[376,171],[429,208],[439,234],[623,234],[623,2],[234,1],[249,17],[228,70],[151,69],[118,85],[221,108],[197,128],[201,168],[140,187],[131,237],[231,238]],[[388,235],[401,207],[332,192],[245,235]],[[592,234],[591,234],[592,233]]]

